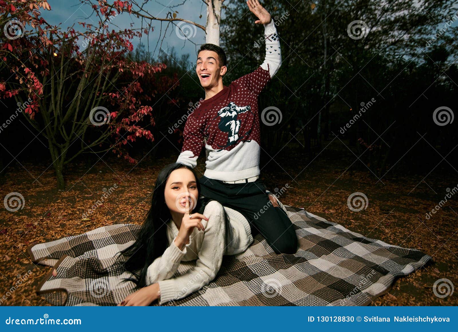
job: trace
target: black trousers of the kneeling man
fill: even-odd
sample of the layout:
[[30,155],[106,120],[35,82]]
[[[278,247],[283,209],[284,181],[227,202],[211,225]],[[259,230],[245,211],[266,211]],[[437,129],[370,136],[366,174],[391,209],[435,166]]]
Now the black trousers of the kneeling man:
[[261,233],[276,254],[294,254],[297,236],[286,212],[270,202],[266,186],[258,178],[248,183],[224,183],[199,178],[200,194],[240,212],[248,220],[253,237]]

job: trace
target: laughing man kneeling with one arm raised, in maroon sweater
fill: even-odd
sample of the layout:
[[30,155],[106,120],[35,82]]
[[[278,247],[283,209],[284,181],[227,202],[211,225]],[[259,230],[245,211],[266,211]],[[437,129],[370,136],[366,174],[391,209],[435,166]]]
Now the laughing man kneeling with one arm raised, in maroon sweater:
[[266,186],[259,180],[257,98],[281,65],[280,43],[267,10],[257,0],[248,0],[247,4],[259,18],[255,23],[264,25],[266,58],[254,72],[224,86],[224,51],[214,44],[201,46],[196,73],[205,89],[205,100],[186,120],[177,162],[195,167],[205,145],[207,161],[199,179],[201,194],[239,211],[249,221],[252,235],[261,232],[275,253],[294,254],[294,227],[276,197],[266,194]]

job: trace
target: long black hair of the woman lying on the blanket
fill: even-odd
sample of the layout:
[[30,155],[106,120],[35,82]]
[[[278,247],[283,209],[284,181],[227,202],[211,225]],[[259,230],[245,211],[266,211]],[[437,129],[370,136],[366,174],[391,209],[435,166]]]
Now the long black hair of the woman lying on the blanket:
[[[203,197],[200,194],[201,186],[199,179],[197,178],[196,172],[194,172],[191,167],[180,163],[172,163],[165,166],[159,172],[154,186],[153,197],[151,199],[151,208],[138,233],[138,238],[130,247],[122,250],[120,256],[118,256],[118,259],[121,257],[127,259],[123,265],[132,275],[131,278],[126,279],[126,281],[135,282],[136,288],[146,286],[148,266],[150,266],[156,258],[164,254],[165,249],[169,246],[166,223],[170,220],[172,215],[165,203],[164,190],[170,173],[179,168],[189,169],[194,174],[194,177],[196,177],[196,187],[200,197],[197,199],[197,204],[192,210],[192,213],[197,212],[203,214],[207,203],[213,200],[208,197]],[[229,217],[225,211],[224,223],[226,229],[226,243],[224,245],[226,247],[231,243],[232,238],[229,232]]]

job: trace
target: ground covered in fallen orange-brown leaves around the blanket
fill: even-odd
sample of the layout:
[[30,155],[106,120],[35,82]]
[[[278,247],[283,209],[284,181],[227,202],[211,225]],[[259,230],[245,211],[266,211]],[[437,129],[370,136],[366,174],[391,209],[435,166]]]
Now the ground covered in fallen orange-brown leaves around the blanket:
[[[289,147],[274,160],[269,159],[262,162],[265,166],[261,178],[269,190],[278,188],[283,193],[279,198],[284,204],[304,207],[354,232],[420,249],[433,257],[434,261],[427,266],[397,279],[391,291],[372,305],[458,304],[456,293],[439,298],[433,292],[438,279],[447,278],[455,284],[458,281],[457,197],[449,199],[431,219],[425,219],[425,214],[444,199],[447,188],[457,186],[452,166],[442,163],[427,176],[425,172],[404,177],[392,170],[378,181],[380,176],[376,177],[360,160],[355,161],[356,157],[340,142],[330,144],[313,160]],[[1,304],[49,305],[35,289],[51,268],[34,265],[28,258],[27,246],[103,225],[141,223],[149,209],[158,171],[175,160],[176,154],[157,160],[154,165],[142,161],[135,167],[108,157],[92,167],[73,164],[66,169],[64,191],[55,189],[54,172],[45,162],[10,166],[0,188],[1,198],[18,192],[25,204],[16,212],[6,210],[3,205],[0,210]],[[199,159],[197,169],[199,175],[203,174],[204,157]],[[109,189],[114,183],[118,188],[88,216],[89,220],[83,221],[83,213],[103,197],[104,188]],[[349,209],[347,199],[355,192],[368,197],[365,210]],[[23,282],[19,284],[19,280]],[[11,292],[12,287],[16,290]]]

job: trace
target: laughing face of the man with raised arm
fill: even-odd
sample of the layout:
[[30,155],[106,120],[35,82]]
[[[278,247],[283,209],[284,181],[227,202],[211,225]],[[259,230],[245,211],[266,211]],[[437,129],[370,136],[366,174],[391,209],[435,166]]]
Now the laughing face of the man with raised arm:
[[203,50],[197,55],[196,73],[201,85],[212,88],[226,72],[226,66],[219,66],[218,53],[215,51]]

